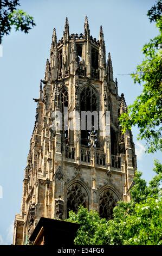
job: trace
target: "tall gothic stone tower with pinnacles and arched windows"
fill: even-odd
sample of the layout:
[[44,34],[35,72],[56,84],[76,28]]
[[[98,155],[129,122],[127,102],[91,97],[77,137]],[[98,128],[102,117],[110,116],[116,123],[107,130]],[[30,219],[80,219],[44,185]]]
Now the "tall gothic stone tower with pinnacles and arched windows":
[[[97,41],[90,35],[87,17],[83,34],[70,35],[67,18],[59,41],[54,28],[40,97],[34,100],[36,120],[21,214],[15,217],[16,245],[28,243],[40,217],[64,220],[80,204],[111,218],[118,200],[129,200],[136,168],[132,133],[122,135],[118,121],[127,111],[124,94],[118,95],[110,53],[106,63],[102,27]],[[84,111],[96,113],[90,127],[87,116],[81,116]]]

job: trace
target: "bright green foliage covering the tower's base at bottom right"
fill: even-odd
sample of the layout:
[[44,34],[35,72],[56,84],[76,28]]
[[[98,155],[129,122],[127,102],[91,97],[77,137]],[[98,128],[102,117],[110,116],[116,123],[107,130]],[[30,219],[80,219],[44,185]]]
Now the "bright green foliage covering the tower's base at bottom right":
[[118,202],[113,220],[101,219],[98,212],[83,206],[67,221],[80,223],[76,245],[162,245],[162,164],[154,161],[156,175],[147,185],[141,172],[135,173],[131,201]]

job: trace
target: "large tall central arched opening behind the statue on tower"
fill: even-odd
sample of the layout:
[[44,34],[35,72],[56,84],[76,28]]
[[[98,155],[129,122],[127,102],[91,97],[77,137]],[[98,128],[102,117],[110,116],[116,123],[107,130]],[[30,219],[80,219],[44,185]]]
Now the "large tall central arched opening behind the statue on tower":
[[[83,88],[80,94],[80,110],[81,110],[81,144],[89,145],[90,132],[96,130],[96,143],[99,143],[99,107],[98,107],[98,96],[95,90],[86,86]],[[88,119],[88,115],[83,114],[84,112],[94,112],[92,114],[92,120]],[[91,117],[90,117],[91,118]],[[82,124],[85,125],[82,125]],[[90,127],[89,127],[90,126]],[[97,129],[96,129],[97,127]]]

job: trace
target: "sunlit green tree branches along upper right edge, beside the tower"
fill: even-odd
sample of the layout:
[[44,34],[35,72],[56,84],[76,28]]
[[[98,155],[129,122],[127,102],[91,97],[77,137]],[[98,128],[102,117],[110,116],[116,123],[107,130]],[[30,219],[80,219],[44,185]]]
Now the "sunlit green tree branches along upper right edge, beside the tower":
[[155,22],[159,34],[142,48],[145,59],[132,77],[135,83],[142,84],[142,93],[127,113],[120,116],[122,131],[139,127],[138,139],[146,139],[148,153],[162,150],[162,2],[148,10],[150,22]]

